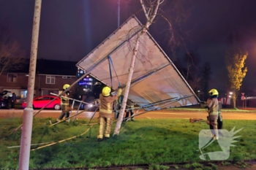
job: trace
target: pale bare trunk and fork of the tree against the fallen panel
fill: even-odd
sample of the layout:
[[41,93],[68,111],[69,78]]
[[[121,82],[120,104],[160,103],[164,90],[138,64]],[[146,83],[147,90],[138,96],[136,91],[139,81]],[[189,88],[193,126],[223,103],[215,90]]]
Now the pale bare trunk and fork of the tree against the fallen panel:
[[[124,111],[125,111],[125,108],[127,107],[127,98],[128,98],[128,95],[129,95],[129,87],[131,85],[132,74],[133,74],[134,68],[135,68],[136,56],[137,56],[138,48],[139,48],[139,45],[140,45],[140,37],[148,31],[149,26],[151,26],[151,24],[153,23],[154,18],[157,15],[159,5],[162,4],[163,1],[164,0],[162,0],[160,2],[160,0],[157,0],[157,2],[155,2],[156,4],[155,5],[151,4],[151,7],[147,10],[146,5],[144,4],[143,0],[140,0],[140,4],[143,8],[143,12],[146,16],[147,21],[146,21],[146,26],[143,26],[143,30],[138,34],[138,36],[136,38],[136,41],[135,41],[135,46],[132,50],[132,61],[131,61],[131,65],[129,67],[127,85],[126,85],[126,88],[124,90],[124,99],[123,99],[123,102],[122,102],[121,111],[120,111],[120,114],[119,114],[119,117],[118,117],[118,121],[116,123],[116,128],[115,128],[115,131],[113,133],[113,136],[119,134],[120,128],[121,128],[121,123],[122,123],[123,118],[124,118]],[[149,16],[149,14],[151,12],[153,12],[153,13],[152,13],[152,15]]]

